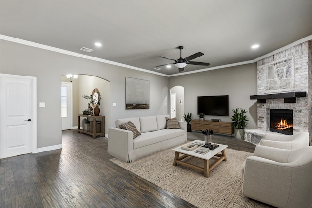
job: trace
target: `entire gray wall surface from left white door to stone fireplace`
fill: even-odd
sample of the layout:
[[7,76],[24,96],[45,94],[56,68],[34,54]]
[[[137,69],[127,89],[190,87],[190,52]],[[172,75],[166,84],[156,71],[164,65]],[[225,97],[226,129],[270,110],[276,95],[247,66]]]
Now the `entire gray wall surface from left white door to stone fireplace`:
[[[60,88],[61,76],[66,74],[97,76],[110,83],[106,129],[115,126],[118,118],[169,114],[169,89],[177,85],[184,87],[184,112],[193,118],[198,118],[197,96],[229,95],[230,111],[245,108],[250,120],[247,128],[257,126],[256,101],[249,97],[257,92],[255,63],[168,78],[6,40],[0,44],[0,73],[37,77],[37,148],[61,144]],[[150,81],[150,109],[125,110],[125,77]],[[39,102],[46,107],[39,108]],[[230,121],[231,116],[232,112],[220,119]],[[211,118],[218,117],[206,117]]]

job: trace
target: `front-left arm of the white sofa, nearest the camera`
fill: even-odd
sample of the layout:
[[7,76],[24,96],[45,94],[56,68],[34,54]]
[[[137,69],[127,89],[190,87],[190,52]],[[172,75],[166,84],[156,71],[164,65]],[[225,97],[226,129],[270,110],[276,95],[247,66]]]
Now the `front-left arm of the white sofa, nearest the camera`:
[[125,162],[132,161],[133,134],[115,127],[109,128],[107,153]]

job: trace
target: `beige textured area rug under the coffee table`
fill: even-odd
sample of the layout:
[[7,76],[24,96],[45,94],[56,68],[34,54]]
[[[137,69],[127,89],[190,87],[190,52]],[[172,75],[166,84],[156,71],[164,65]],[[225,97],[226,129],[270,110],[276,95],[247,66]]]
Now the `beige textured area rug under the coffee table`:
[[[110,161],[199,208],[269,208],[242,194],[241,165],[246,157],[253,154],[231,149],[226,149],[226,154],[228,160],[217,165],[209,178],[204,177],[201,171],[182,165],[173,166],[175,151],[171,149],[132,163],[117,158]],[[200,159],[190,158],[188,162],[203,167]]]

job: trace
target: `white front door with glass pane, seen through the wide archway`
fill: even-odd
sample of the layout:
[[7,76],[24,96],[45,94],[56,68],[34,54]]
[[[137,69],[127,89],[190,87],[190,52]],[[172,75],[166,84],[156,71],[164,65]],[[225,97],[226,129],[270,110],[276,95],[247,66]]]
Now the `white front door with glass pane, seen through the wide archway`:
[[62,130],[72,128],[72,83],[62,82]]

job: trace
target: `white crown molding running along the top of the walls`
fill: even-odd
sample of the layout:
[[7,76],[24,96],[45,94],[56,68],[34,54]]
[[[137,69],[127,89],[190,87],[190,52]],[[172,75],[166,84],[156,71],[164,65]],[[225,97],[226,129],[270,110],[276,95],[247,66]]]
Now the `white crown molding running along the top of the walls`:
[[76,53],[76,52],[71,52],[71,51],[67,51],[67,50],[64,50],[64,49],[55,48],[55,47],[51,47],[51,46],[47,46],[47,45],[31,42],[31,41],[28,41],[28,40],[19,39],[19,38],[13,38],[13,37],[1,35],[1,34],[0,34],[0,39],[11,41],[11,42],[16,42],[16,43],[20,43],[20,44],[23,44],[23,45],[36,47],[36,48],[41,48],[41,49],[45,49],[45,50],[49,50],[49,51],[54,51],[54,52],[61,53],[61,54],[67,54],[67,55],[70,55],[70,56],[86,58],[86,59],[89,59],[89,60],[94,60],[94,61],[107,63],[107,64],[111,64],[111,65],[115,65],[115,66],[120,66],[120,67],[124,67],[124,68],[128,68],[128,69],[134,69],[134,70],[141,71],[141,72],[146,72],[146,73],[151,73],[151,74],[160,75],[160,76],[166,76],[166,77],[172,77],[172,76],[188,75],[188,74],[193,74],[193,73],[199,73],[199,72],[205,72],[205,71],[210,71],[210,70],[215,70],[215,69],[222,69],[222,68],[227,68],[227,67],[232,67],[232,66],[239,66],[239,65],[245,65],[245,64],[254,63],[254,62],[257,62],[258,60],[261,60],[261,59],[266,58],[266,57],[270,57],[270,56],[272,56],[272,55],[274,55],[276,53],[284,51],[284,50],[286,50],[288,48],[291,48],[291,47],[293,47],[295,45],[298,45],[300,43],[312,40],[312,35],[307,36],[305,38],[301,38],[301,39],[299,39],[299,40],[297,40],[295,42],[292,42],[292,43],[290,43],[290,44],[288,44],[288,45],[286,45],[284,47],[276,49],[275,51],[272,51],[272,52],[270,52],[268,54],[265,54],[265,55],[263,55],[261,57],[257,57],[254,60],[243,61],[243,62],[232,63],[232,64],[226,64],[226,65],[221,65],[221,66],[215,66],[215,67],[195,70],[195,71],[191,71],[191,72],[183,72],[183,73],[173,74],[173,75],[166,75],[166,74],[162,74],[162,73],[159,73],[159,72],[153,72],[153,71],[150,71],[150,70],[146,70],[146,69],[142,69],[142,68],[138,68],[138,67],[122,64],[122,63],[118,63],[118,62],[115,62],[115,61],[109,61],[109,60],[102,59],[102,58],[91,57],[91,56],[79,54],[79,53]]

